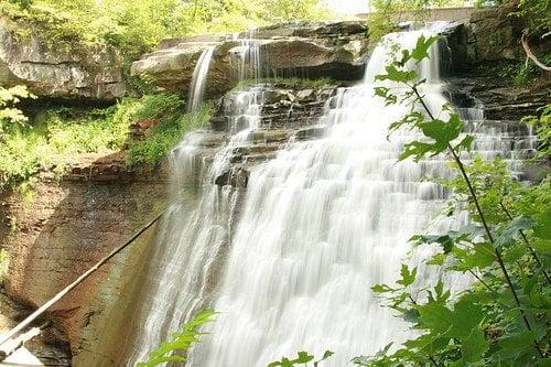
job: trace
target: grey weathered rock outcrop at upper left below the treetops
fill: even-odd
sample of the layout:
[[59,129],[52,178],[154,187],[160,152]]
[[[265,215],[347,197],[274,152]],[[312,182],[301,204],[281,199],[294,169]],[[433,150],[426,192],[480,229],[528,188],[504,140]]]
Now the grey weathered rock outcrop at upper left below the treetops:
[[125,95],[116,50],[46,44],[37,32],[24,37],[0,19],[0,85],[26,85],[39,97],[109,102]]

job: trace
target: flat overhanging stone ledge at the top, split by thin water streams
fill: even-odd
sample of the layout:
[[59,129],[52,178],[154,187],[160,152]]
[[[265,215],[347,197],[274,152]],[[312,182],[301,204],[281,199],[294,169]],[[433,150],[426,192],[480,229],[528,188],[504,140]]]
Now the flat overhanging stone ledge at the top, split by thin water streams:
[[131,74],[150,75],[161,89],[186,94],[202,52],[216,45],[206,93],[219,96],[236,84],[230,55],[238,54],[245,39],[257,40],[262,75],[355,80],[364,73],[367,26],[361,21],[343,21],[284,23],[240,34],[163,40],[155,52],[132,64]]

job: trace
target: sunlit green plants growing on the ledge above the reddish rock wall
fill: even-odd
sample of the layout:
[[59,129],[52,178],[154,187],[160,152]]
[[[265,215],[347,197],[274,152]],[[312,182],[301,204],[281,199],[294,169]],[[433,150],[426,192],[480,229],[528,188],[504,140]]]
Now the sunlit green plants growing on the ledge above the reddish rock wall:
[[[10,123],[0,141],[0,190],[24,184],[40,171],[63,173],[67,160],[82,153],[128,147],[129,165],[153,166],[185,132],[208,120],[208,106],[186,115],[183,105],[177,95],[156,94],[126,98],[107,109],[54,108],[33,123]],[[129,127],[144,120],[158,125],[144,140],[129,139]]]

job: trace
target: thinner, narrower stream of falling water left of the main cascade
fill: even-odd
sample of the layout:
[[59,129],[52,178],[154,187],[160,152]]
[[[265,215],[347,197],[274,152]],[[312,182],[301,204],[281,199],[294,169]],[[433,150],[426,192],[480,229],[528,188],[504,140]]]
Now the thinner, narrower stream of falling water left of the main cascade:
[[[143,324],[138,325],[128,366],[143,360],[210,301],[239,199],[239,191],[219,187],[215,180],[228,169],[233,150],[246,143],[258,127],[262,99],[262,88],[251,87],[237,93],[225,106],[231,138],[217,152],[205,151],[202,131],[188,134],[172,151],[171,205],[159,229],[149,283],[144,284],[149,298],[141,311]],[[208,162],[205,156],[213,154]]]

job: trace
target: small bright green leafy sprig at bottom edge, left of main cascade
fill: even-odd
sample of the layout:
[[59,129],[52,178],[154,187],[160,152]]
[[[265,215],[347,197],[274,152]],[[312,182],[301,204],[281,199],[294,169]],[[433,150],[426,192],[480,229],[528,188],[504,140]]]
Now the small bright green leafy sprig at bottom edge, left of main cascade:
[[185,353],[193,344],[199,342],[205,333],[199,328],[213,321],[216,315],[214,310],[198,312],[192,321],[181,326],[181,332],[172,334],[172,339],[163,342],[161,346],[149,354],[147,361],[139,363],[138,367],[154,367],[166,361],[185,361],[185,358],[174,353]]

